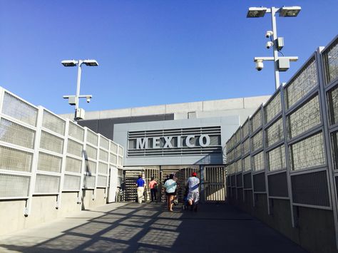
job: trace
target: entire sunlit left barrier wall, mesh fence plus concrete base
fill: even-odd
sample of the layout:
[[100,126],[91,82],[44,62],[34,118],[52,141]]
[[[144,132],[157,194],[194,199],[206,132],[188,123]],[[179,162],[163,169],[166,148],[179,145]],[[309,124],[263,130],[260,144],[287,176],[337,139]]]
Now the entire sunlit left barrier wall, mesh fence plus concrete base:
[[0,234],[107,202],[123,147],[0,87]]

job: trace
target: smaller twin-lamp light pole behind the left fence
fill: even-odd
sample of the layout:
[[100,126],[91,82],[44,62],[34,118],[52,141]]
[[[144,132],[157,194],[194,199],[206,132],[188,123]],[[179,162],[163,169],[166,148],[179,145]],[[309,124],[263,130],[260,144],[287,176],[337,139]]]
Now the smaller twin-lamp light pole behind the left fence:
[[78,120],[84,118],[85,111],[81,108],[78,108],[79,98],[86,98],[87,103],[91,101],[92,95],[80,95],[80,83],[81,83],[81,65],[84,63],[86,66],[98,66],[96,60],[66,60],[61,61],[62,65],[65,67],[75,67],[78,66],[78,80],[76,82],[76,95],[63,95],[63,98],[68,98],[68,103],[70,105],[75,105],[75,115],[74,122],[77,123]]

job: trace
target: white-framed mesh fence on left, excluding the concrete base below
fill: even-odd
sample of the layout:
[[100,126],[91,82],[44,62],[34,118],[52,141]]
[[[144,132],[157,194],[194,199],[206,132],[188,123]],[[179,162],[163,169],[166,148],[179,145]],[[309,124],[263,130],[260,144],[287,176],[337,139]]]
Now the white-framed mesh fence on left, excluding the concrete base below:
[[[0,103],[1,200],[26,199],[29,210],[33,195],[81,191],[82,184],[85,189],[107,187],[108,161],[118,163],[119,169],[123,166],[123,148],[88,128],[34,107],[1,87]],[[88,142],[83,142],[85,133]],[[91,145],[98,145],[98,138],[101,162],[96,167],[97,149]],[[83,145],[88,156],[83,155]]]

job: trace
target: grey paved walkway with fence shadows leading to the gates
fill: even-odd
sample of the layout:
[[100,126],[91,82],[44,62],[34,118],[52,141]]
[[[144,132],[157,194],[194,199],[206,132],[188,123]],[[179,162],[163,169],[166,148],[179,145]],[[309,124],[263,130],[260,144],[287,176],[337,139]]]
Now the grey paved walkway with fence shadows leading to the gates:
[[0,237],[0,252],[306,252],[228,205],[116,203]]

